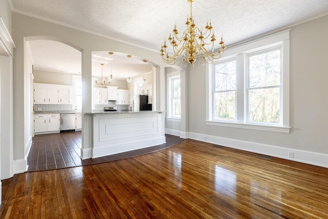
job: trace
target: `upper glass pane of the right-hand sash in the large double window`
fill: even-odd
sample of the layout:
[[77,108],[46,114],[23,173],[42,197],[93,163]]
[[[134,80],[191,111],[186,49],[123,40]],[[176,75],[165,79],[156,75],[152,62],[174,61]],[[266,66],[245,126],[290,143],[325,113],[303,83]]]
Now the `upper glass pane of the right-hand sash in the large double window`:
[[249,88],[280,85],[280,49],[249,56]]

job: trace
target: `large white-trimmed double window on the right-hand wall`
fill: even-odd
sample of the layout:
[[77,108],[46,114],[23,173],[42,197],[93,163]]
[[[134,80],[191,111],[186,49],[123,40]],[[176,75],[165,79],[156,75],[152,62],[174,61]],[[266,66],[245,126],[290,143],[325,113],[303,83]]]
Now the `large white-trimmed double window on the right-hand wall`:
[[289,133],[289,31],[225,53],[208,68],[207,125]]

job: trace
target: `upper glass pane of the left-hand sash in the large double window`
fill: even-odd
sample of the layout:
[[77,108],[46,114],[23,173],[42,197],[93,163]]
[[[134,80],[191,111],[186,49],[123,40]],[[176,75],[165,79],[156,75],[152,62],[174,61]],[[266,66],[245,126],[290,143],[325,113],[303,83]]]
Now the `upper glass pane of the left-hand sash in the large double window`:
[[236,89],[236,61],[220,63],[214,67],[214,91]]

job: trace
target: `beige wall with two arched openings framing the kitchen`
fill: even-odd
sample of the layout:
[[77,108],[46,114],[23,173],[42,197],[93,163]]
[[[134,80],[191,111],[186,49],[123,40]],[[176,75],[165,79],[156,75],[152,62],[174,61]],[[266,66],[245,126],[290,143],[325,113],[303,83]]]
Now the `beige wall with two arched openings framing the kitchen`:
[[[83,81],[83,112],[91,112],[91,55],[92,51],[114,51],[136,55],[148,59],[156,68],[156,86],[158,96],[165,92],[165,80],[161,80],[165,65],[158,52],[149,51],[139,47],[113,41],[90,33],[42,21],[26,15],[12,13],[12,35],[16,44],[14,51],[14,159],[25,159],[24,147],[28,140],[18,133],[26,133],[25,113],[27,103],[24,102],[25,92],[28,91],[24,81],[24,39],[42,39],[49,37],[66,43],[82,52],[82,81]],[[78,37],[77,37],[78,36]],[[157,103],[158,110],[165,110],[165,102]],[[83,115],[83,148],[91,146],[91,116]],[[82,154],[84,156],[84,154]],[[85,157],[85,156],[84,156]],[[88,158],[88,157],[85,157]]]

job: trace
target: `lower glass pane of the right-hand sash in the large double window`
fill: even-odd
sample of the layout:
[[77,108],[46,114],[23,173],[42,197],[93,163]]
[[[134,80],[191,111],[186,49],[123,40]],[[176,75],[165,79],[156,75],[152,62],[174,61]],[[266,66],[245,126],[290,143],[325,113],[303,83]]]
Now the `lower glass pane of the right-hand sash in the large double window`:
[[249,121],[280,123],[280,88],[249,91]]

